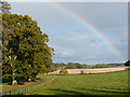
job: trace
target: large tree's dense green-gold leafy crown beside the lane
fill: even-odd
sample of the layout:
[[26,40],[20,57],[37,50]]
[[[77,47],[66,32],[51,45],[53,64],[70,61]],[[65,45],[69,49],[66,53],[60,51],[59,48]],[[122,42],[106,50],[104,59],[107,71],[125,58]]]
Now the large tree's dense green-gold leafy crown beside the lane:
[[3,78],[35,81],[52,64],[54,50],[47,44],[48,34],[28,15],[3,14],[2,18]]

